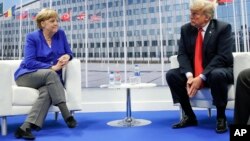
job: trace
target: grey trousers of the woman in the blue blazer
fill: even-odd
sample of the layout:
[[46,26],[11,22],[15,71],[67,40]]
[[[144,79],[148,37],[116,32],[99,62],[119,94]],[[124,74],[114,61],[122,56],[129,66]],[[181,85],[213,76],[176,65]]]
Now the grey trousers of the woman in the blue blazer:
[[64,87],[56,72],[40,69],[24,74],[16,80],[18,86],[31,87],[39,90],[39,96],[33,104],[26,121],[42,127],[51,104],[66,102]]

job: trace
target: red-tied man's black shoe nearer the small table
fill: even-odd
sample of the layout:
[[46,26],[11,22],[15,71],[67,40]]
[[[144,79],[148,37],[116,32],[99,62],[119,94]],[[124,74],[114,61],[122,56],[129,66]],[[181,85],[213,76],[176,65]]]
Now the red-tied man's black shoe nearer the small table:
[[196,119],[191,119],[185,116],[179,123],[174,124],[172,128],[177,129],[177,128],[184,128],[188,126],[197,126],[197,125],[198,125],[198,122]]

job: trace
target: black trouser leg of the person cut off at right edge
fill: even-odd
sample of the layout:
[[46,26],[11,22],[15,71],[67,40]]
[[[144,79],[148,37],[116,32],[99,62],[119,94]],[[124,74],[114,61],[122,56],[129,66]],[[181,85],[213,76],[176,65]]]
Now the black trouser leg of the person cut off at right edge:
[[250,69],[243,70],[236,83],[234,122],[247,124],[250,118]]

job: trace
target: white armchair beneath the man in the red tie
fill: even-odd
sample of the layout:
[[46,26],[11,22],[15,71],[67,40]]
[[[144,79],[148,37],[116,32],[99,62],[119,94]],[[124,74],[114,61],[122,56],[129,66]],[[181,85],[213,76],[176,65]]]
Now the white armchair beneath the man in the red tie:
[[[238,77],[238,74],[246,69],[250,68],[250,52],[237,52],[233,53],[234,56],[234,84],[228,86],[228,104],[227,109],[234,109],[234,100],[235,100],[235,83]],[[171,56],[170,58],[171,68],[179,67],[177,60],[177,55]],[[199,108],[208,108],[208,115],[211,116],[211,108],[215,108],[212,104],[212,96],[210,94],[209,88],[203,88],[197,92],[197,94],[190,99],[192,107]],[[179,104],[175,104],[179,105]],[[182,118],[182,110],[180,106],[180,117]]]

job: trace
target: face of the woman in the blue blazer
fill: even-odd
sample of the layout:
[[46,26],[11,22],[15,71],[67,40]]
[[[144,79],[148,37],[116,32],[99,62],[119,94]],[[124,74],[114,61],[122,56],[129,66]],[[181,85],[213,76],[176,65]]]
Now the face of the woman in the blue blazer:
[[42,29],[48,31],[49,33],[56,33],[58,31],[58,19],[57,18],[50,18],[48,20],[41,22]]

